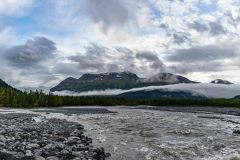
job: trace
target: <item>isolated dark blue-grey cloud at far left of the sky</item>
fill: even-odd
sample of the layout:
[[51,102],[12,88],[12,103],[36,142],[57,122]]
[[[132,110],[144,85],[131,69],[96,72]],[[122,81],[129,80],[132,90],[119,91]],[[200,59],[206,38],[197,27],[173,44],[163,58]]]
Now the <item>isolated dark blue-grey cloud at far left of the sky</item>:
[[45,37],[36,37],[23,45],[13,46],[3,52],[3,57],[13,66],[28,67],[53,56],[55,43]]

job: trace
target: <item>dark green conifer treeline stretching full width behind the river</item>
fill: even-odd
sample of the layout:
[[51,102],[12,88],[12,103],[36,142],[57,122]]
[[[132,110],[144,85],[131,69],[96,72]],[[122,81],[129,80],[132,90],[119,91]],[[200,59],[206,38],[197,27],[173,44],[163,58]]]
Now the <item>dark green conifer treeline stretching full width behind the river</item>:
[[4,107],[58,107],[58,106],[115,106],[115,105],[151,105],[151,106],[218,106],[240,107],[239,99],[156,99],[128,100],[111,96],[57,96],[43,92],[20,92],[0,89],[0,106]]

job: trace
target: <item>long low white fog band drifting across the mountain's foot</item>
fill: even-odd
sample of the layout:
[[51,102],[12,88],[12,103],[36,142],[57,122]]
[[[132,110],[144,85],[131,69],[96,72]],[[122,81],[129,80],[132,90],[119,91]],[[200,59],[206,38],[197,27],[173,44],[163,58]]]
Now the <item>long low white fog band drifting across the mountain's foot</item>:
[[56,95],[71,95],[71,96],[93,96],[93,95],[118,95],[122,93],[137,92],[137,91],[184,91],[190,92],[194,95],[205,95],[211,98],[233,98],[239,94],[239,85],[224,85],[224,84],[209,84],[209,83],[198,83],[198,84],[176,84],[176,85],[164,85],[164,86],[149,86],[142,88],[134,88],[129,90],[120,89],[108,89],[103,91],[90,91],[90,92],[71,92],[71,91],[60,91],[54,92]]

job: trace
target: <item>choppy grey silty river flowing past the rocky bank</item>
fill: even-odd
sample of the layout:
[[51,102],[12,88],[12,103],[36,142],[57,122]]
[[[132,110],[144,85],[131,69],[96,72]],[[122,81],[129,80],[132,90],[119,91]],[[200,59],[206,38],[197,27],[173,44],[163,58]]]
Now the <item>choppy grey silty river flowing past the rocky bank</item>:
[[240,159],[240,135],[233,133],[240,130],[238,115],[153,109],[94,106],[11,111],[83,124],[93,144],[104,147],[113,160]]

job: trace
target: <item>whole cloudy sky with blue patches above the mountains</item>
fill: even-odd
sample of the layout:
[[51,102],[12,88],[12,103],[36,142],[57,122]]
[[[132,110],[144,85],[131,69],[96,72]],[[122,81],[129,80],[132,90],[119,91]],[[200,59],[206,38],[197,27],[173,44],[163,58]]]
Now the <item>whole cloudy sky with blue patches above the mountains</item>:
[[1,0],[0,78],[53,87],[84,73],[240,83],[240,0]]

